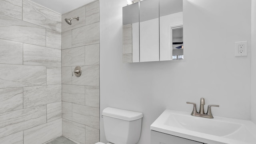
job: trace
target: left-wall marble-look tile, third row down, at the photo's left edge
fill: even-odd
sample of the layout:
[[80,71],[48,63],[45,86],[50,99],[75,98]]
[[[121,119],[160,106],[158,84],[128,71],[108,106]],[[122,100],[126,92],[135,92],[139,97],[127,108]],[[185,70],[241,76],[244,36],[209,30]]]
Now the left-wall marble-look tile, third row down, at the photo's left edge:
[[23,44],[0,39],[0,63],[23,64]]

